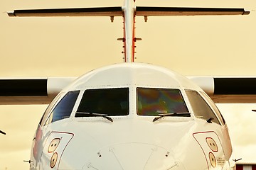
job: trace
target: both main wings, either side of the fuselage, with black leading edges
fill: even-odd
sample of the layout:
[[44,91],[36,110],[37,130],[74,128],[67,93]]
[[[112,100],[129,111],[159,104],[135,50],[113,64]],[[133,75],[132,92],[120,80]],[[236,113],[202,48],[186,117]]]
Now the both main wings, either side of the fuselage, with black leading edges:
[[[76,77],[0,78],[0,105],[49,104]],[[215,103],[256,103],[256,77],[188,77]]]

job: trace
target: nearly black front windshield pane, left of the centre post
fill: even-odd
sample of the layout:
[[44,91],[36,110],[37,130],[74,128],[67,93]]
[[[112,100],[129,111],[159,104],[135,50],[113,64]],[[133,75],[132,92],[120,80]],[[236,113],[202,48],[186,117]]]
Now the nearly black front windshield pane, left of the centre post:
[[88,89],[82,96],[75,117],[129,114],[129,88]]

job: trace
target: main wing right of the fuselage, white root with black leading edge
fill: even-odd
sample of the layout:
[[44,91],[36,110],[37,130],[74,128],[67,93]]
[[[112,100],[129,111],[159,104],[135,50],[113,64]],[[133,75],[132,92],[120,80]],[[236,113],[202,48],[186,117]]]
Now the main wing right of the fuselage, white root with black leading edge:
[[189,77],[215,103],[256,103],[256,77]]

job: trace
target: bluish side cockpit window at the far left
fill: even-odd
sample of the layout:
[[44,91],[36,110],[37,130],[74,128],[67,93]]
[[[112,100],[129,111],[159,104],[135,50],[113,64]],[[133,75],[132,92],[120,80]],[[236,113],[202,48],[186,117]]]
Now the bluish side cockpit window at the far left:
[[46,125],[57,120],[69,118],[75,106],[75,101],[78,98],[79,92],[80,91],[69,91],[67,94],[65,94],[55,108],[53,108],[53,111],[50,113],[50,116],[46,121]]

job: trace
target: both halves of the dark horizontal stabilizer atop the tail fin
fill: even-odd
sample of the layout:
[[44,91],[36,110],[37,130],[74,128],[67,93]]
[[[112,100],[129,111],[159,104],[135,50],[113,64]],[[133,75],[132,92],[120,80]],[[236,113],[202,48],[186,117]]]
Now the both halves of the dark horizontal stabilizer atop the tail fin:
[[[123,16],[121,6],[23,9],[7,13],[9,16]],[[136,16],[248,15],[249,13],[250,11],[245,11],[244,8],[136,7]]]

